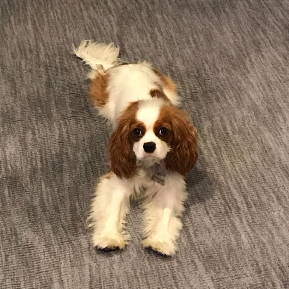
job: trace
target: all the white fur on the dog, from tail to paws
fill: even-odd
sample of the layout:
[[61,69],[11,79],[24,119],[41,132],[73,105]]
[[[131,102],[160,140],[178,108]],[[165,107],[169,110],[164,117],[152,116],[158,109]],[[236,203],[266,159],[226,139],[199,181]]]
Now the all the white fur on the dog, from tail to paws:
[[[93,228],[93,244],[100,248],[125,247],[129,240],[129,234],[124,228],[129,198],[136,196],[145,199],[144,247],[174,255],[176,238],[182,228],[179,215],[187,193],[184,177],[179,173],[170,172],[165,177],[164,186],[151,180],[154,174],[151,166],[163,160],[170,148],[153,130],[160,106],[165,105],[165,102],[152,98],[150,91],[161,86],[173,105],[178,104],[178,95],[163,85],[152,65],[146,61],[118,66],[119,48],[113,43],[106,45],[86,40],[74,52],[92,67],[89,78],[94,78],[97,73],[107,73],[109,76],[108,102],[98,107],[99,113],[116,126],[123,110],[131,102],[140,101],[136,118],[146,127],[145,135],[133,145],[138,166],[136,175],[131,179],[120,179],[110,173],[102,177],[97,185],[89,216],[89,226]],[[147,154],[143,145],[150,141],[156,144],[156,149]]]

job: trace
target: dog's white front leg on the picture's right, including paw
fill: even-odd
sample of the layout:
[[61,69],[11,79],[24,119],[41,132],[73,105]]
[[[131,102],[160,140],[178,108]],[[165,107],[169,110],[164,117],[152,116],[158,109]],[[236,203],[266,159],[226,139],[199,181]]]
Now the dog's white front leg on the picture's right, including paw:
[[[157,193],[150,198],[149,190],[157,187]],[[163,255],[172,256],[176,252],[176,238],[182,228],[179,219],[187,197],[185,181],[178,173],[166,176],[164,186],[159,184],[148,188],[148,200],[144,202],[143,246]]]

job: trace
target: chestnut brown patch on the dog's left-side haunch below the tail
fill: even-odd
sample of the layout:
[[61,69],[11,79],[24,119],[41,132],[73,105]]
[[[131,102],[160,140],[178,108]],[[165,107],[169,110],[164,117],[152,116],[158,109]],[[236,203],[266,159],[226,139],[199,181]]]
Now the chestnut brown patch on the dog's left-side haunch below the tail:
[[95,107],[103,107],[108,101],[107,85],[109,81],[108,73],[97,73],[91,80],[88,97]]

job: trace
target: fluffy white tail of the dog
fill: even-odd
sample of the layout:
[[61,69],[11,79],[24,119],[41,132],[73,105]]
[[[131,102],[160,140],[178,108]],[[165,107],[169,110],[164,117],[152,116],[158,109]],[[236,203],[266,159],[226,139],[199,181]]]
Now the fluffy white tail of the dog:
[[103,66],[104,70],[119,63],[118,54],[120,48],[114,43],[95,43],[92,40],[83,40],[78,48],[73,49],[74,53],[93,69],[97,70]]

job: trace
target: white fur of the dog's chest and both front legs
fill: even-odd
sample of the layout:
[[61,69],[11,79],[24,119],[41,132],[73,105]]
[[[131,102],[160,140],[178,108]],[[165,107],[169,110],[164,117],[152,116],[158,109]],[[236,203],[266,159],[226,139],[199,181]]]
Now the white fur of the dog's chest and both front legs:
[[[150,169],[139,169],[138,176],[120,179],[103,177],[98,183],[89,216],[93,245],[99,248],[124,248],[129,240],[125,217],[129,198],[144,198],[144,247],[169,256],[176,253],[176,238],[182,228],[179,219],[187,192],[179,173],[166,177],[164,186],[151,180]],[[143,188],[146,188],[145,192]]]

